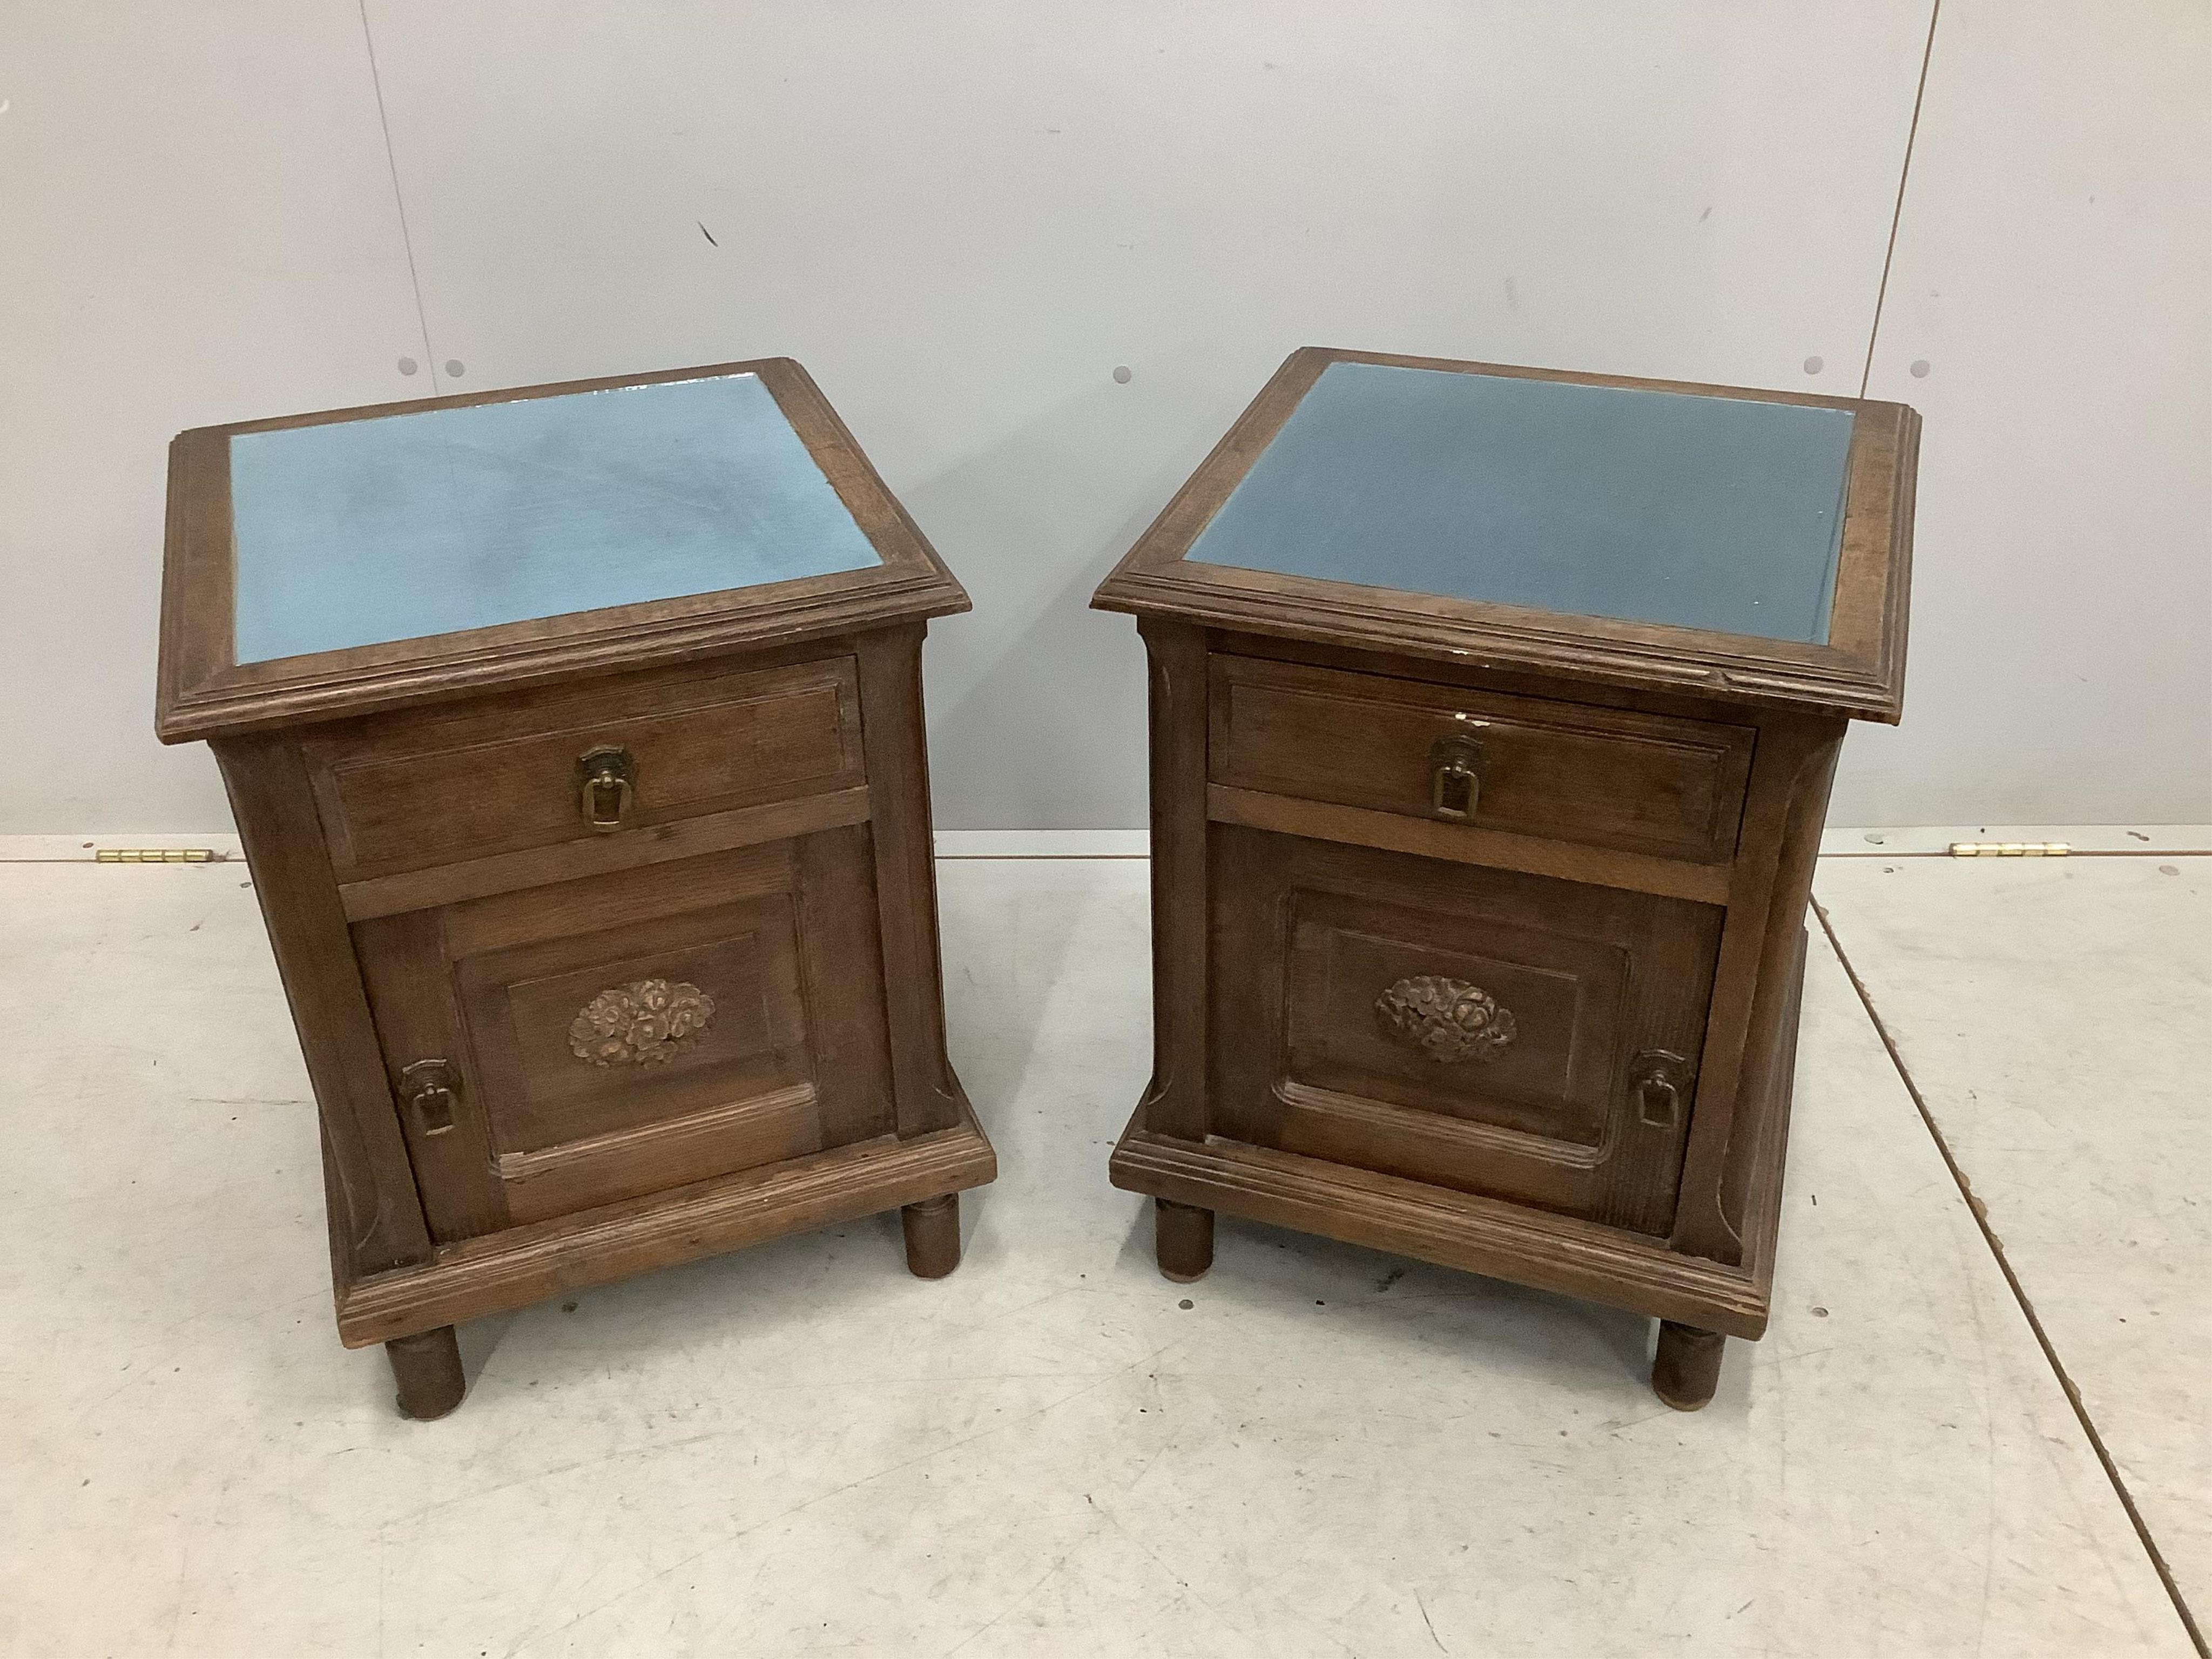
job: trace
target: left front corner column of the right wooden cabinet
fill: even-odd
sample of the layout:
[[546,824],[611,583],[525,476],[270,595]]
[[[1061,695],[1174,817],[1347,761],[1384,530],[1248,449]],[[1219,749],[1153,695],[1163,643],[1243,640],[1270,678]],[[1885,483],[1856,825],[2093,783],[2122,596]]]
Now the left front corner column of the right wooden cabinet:
[[1150,661],[1152,723],[1152,1084],[1144,1126],[1203,1141],[1206,630],[1137,617],[1137,633]]

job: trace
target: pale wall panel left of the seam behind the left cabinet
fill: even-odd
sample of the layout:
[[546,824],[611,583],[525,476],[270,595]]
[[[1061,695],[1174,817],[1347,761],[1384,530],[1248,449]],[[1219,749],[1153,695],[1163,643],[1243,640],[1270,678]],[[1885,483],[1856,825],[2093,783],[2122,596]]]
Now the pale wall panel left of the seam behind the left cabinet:
[[407,396],[361,13],[0,2],[0,834],[228,830],[153,741],[168,440]]

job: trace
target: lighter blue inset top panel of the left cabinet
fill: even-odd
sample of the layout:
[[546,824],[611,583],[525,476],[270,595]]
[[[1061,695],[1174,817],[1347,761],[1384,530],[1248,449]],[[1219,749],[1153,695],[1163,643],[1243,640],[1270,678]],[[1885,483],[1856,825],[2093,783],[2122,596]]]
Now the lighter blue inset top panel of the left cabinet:
[[754,374],[230,438],[234,661],[863,571]]

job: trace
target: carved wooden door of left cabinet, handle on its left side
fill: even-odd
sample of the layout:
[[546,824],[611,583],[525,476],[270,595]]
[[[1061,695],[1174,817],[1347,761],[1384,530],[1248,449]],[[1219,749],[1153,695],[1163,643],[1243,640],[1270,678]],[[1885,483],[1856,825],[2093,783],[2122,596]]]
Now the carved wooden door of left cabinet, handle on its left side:
[[867,827],[354,927],[431,1232],[891,1133]]

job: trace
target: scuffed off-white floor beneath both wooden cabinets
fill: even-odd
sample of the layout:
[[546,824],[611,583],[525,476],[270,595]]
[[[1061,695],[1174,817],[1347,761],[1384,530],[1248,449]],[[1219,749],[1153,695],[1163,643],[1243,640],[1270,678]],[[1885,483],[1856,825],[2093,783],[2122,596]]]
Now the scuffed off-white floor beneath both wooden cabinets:
[[[2208,874],[1818,880],[2201,1610]],[[243,867],[0,865],[0,1650],[2192,1652],[1818,927],[1774,1327],[1681,1416],[1648,1321],[1555,1296],[1234,1221],[1161,1281],[1104,1179],[1146,867],[940,880],[962,1270],[872,1219],[484,1321],[416,1425],[330,1327]]]

